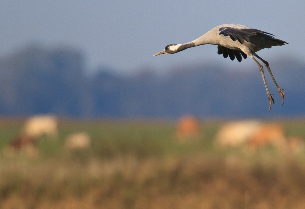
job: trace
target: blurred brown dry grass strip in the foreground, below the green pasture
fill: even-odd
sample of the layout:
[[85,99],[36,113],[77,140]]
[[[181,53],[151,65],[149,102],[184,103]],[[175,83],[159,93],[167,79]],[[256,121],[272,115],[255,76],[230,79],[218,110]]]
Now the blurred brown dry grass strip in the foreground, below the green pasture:
[[[303,156],[304,157],[304,156]],[[0,165],[0,208],[305,208],[305,166],[262,154]]]

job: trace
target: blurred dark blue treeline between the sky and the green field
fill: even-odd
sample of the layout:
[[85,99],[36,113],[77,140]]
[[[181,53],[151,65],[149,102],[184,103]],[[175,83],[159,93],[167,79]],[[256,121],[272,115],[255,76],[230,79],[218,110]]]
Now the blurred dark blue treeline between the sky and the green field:
[[81,51],[32,45],[0,58],[0,114],[169,118],[186,113],[198,117],[304,115],[305,64],[289,58],[268,61],[286,94],[282,107],[266,70],[275,101],[270,113],[264,83],[253,62],[241,63],[247,68],[238,70],[217,63],[176,66],[166,75],[156,74],[154,69],[124,75],[101,67],[90,75]]

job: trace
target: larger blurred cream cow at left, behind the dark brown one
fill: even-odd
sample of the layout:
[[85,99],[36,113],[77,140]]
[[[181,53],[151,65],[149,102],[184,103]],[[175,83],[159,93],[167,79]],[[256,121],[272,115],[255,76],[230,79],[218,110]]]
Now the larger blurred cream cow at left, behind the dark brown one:
[[46,135],[55,139],[57,132],[57,119],[53,115],[34,115],[24,123],[24,134],[33,138]]

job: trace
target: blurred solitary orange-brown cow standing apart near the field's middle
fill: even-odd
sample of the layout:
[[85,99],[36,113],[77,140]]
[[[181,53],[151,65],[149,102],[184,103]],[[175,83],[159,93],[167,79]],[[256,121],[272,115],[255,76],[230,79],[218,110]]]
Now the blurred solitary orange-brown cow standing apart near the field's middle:
[[179,142],[193,140],[199,136],[199,122],[193,115],[184,115],[179,118],[176,128]]

